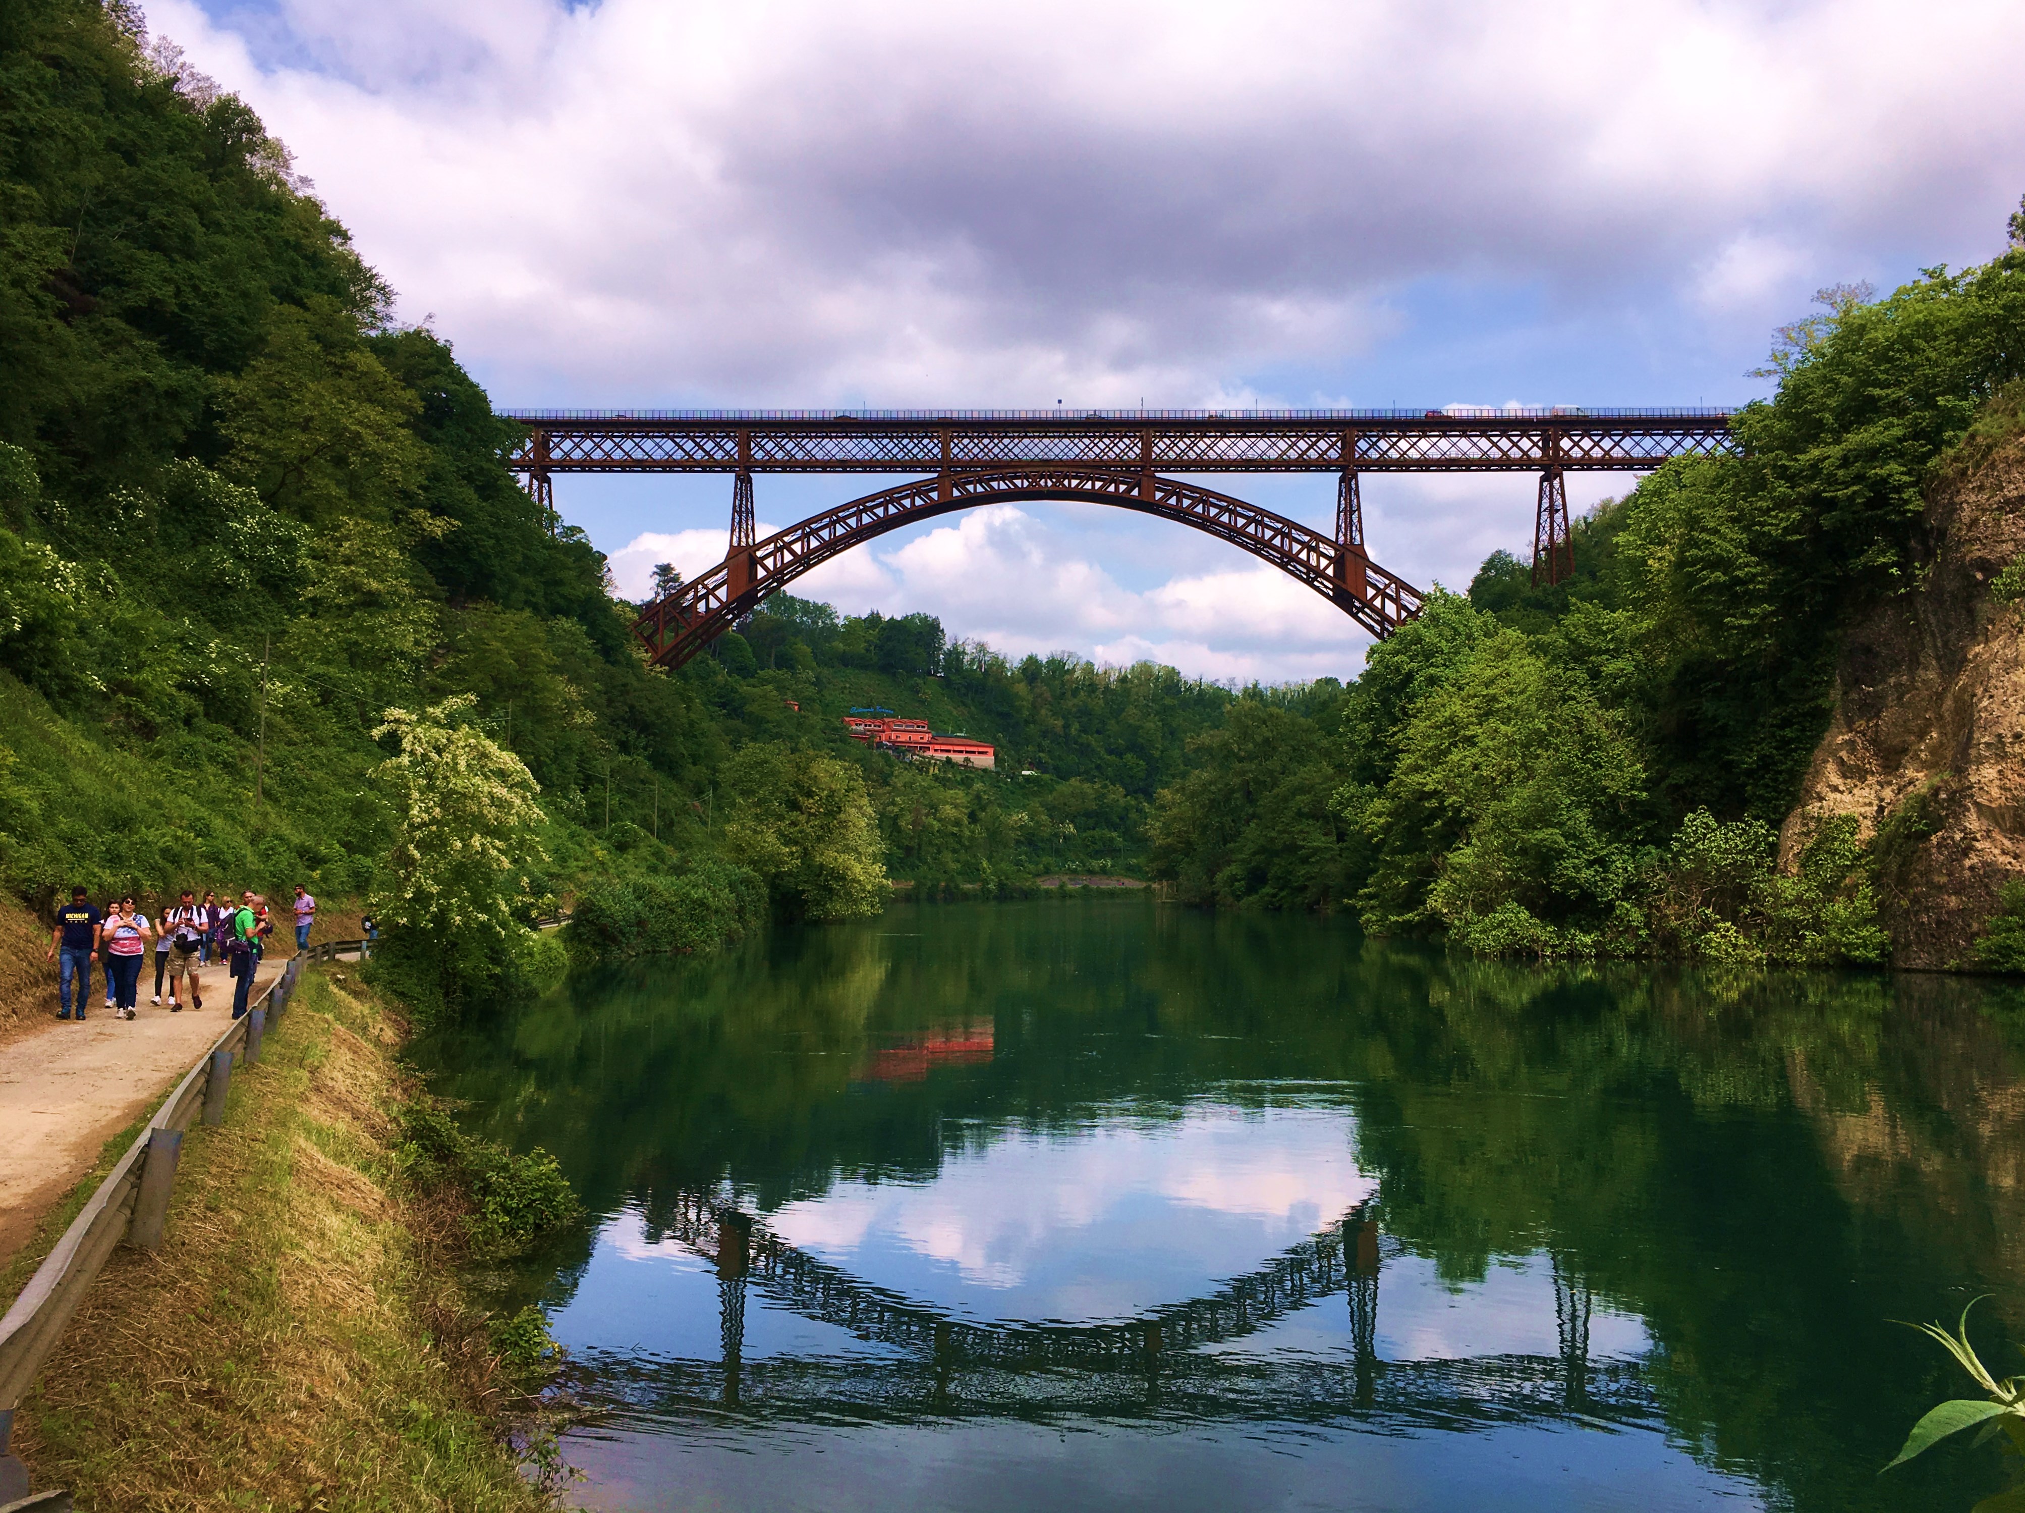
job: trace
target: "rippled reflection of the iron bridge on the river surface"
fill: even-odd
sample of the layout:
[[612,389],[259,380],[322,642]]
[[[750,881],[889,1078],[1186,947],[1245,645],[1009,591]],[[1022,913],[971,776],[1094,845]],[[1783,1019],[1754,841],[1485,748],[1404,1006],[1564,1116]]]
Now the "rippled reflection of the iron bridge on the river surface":
[[[972,1323],[871,1286],[709,1195],[650,1211],[650,1240],[674,1240],[717,1268],[721,1359],[597,1361],[599,1389],[636,1406],[715,1402],[761,1418],[834,1414],[1189,1414],[1430,1422],[1586,1414],[1654,1418],[1642,1371],[1590,1361],[1590,1290],[1555,1264],[1559,1353],[1462,1361],[1377,1357],[1379,1225],[1363,1205],[1215,1292],[1110,1325]],[[893,1351],[745,1361],[745,1294]],[[1345,1292],[1351,1351],[1262,1355],[1251,1335]]]

